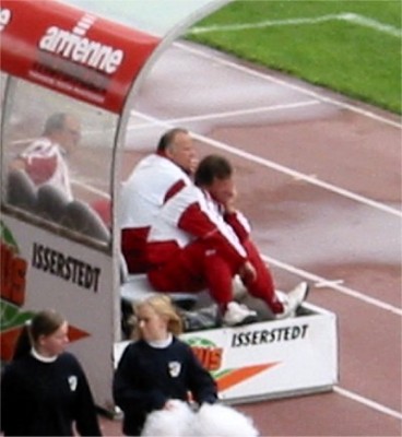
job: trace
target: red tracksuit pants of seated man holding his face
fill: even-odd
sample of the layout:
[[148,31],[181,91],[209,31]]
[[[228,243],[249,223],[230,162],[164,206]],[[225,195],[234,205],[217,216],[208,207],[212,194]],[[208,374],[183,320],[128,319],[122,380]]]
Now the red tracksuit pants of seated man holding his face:
[[[257,272],[257,279],[245,283],[248,293],[262,299],[274,314],[283,311],[275,294],[269,268],[262,261],[256,246],[249,239],[244,247],[248,260]],[[176,246],[168,260],[154,265],[147,272],[152,286],[159,292],[201,292],[209,290],[211,297],[225,308],[233,300],[233,277],[236,268],[203,240],[196,240],[184,248]]]

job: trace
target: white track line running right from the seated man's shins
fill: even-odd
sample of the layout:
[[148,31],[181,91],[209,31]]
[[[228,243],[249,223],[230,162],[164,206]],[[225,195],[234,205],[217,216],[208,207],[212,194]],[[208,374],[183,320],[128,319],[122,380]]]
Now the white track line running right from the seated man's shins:
[[356,292],[355,290],[352,290],[352,288],[345,287],[343,285],[340,285],[339,283],[336,283],[336,281],[331,282],[331,281],[326,280],[322,276],[319,276],[319,275],[314,274],[314,273],[309,273],[306,270],[297,269],[294,265],[291,265],[291,264],[287,264],[285,262],[275,260],[274,258],[268,257],[267,255],[261,255],[261,257],[269,265],[276,265],[276,267],[279,267],[279,268],[283,269],[283,270],[286,270],[286,271],[288,271],[291,273],[297,274],[297,275],[299,275],[302,277],[305,277],[305,279],[307,279],[307,280],[309,280],[311,282],[318,283],[318,284],[322,284],[322,283],[327,282],[329,284],[330,288],[336,290],[338,292],[343,293],[343,294],[345,294],[345,295],[347,295],[350,297],[354,297],[354,298],[356,298],[358,300],[362,300],[362,302],[364,302],[366,304],[374,305],[375,307],[385,309],[386,311],[390,311],[390,312],[392,312],[392,314],[394,314],[397,316],[401,316],[402,317],[402,309],[401,308],[397,308],[393,305],[386,304],[382,300],[376,299],[374,297],[369,297],[369,296],[367,296],[367,295],[365,295],[365,294],[363,294],[360,292]]

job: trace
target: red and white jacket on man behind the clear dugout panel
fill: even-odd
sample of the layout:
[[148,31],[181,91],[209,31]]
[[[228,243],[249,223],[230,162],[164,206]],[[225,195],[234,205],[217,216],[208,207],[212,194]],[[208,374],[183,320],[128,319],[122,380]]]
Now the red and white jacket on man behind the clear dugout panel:
[[25,162],[25,172],[36,186],[52,185],[72,200],[69,168],[59,144],[39,138],[25,149],[20,157]]

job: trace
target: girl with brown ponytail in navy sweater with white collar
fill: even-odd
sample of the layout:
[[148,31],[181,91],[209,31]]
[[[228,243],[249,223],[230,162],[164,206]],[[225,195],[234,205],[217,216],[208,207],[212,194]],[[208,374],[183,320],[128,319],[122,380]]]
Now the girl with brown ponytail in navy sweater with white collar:
[[1,375],[4,436],[100,436],[83,368],[64,352],[68,322],[52,310],[37,312],[23,329]]

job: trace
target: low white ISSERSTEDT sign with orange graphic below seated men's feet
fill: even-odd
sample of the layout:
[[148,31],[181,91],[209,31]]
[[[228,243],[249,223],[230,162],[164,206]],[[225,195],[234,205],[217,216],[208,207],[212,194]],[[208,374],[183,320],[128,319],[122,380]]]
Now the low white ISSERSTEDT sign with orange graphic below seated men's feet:
[[338,381],[335,315],[306,316],[184,334],[232,402],[328,390]]

